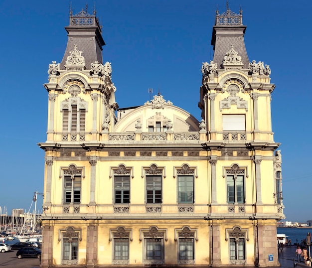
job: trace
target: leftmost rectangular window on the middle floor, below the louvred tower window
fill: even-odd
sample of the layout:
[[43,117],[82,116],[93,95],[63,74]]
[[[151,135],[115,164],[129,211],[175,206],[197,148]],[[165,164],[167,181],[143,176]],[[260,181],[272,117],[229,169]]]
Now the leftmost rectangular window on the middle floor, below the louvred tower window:
[[64,176],[65,203],[80,203],[81,176]]

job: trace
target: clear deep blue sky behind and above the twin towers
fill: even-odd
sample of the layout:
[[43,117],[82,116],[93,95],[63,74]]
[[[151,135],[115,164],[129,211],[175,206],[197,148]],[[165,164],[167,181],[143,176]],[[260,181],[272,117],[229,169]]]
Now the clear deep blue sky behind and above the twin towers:
[[[73,13],[85,0],[72,0]],[[94,1],[89,1],[89,13]],[[112,63],[119,107],[144,104],[148,88],[160,88],[165,100],[200,120],[202,62],[213,57],[212,26],[226,0],[98,0],[103,25],[103,61]],[[312,1],[230,0],[243,10],[249,60],[272,70],[274,139],[282,143],[286,220],[305,222],[310,215],[312,91],[309,82]],[[1,0],[0,206],[28,211],[33,192],[43,192],[48,95],[42,84],[48,65],[63,58],[69,24],[68,0]],[[296,111],[296,112],[292,112]],[[42,197],[38,196],[37,207]]]

